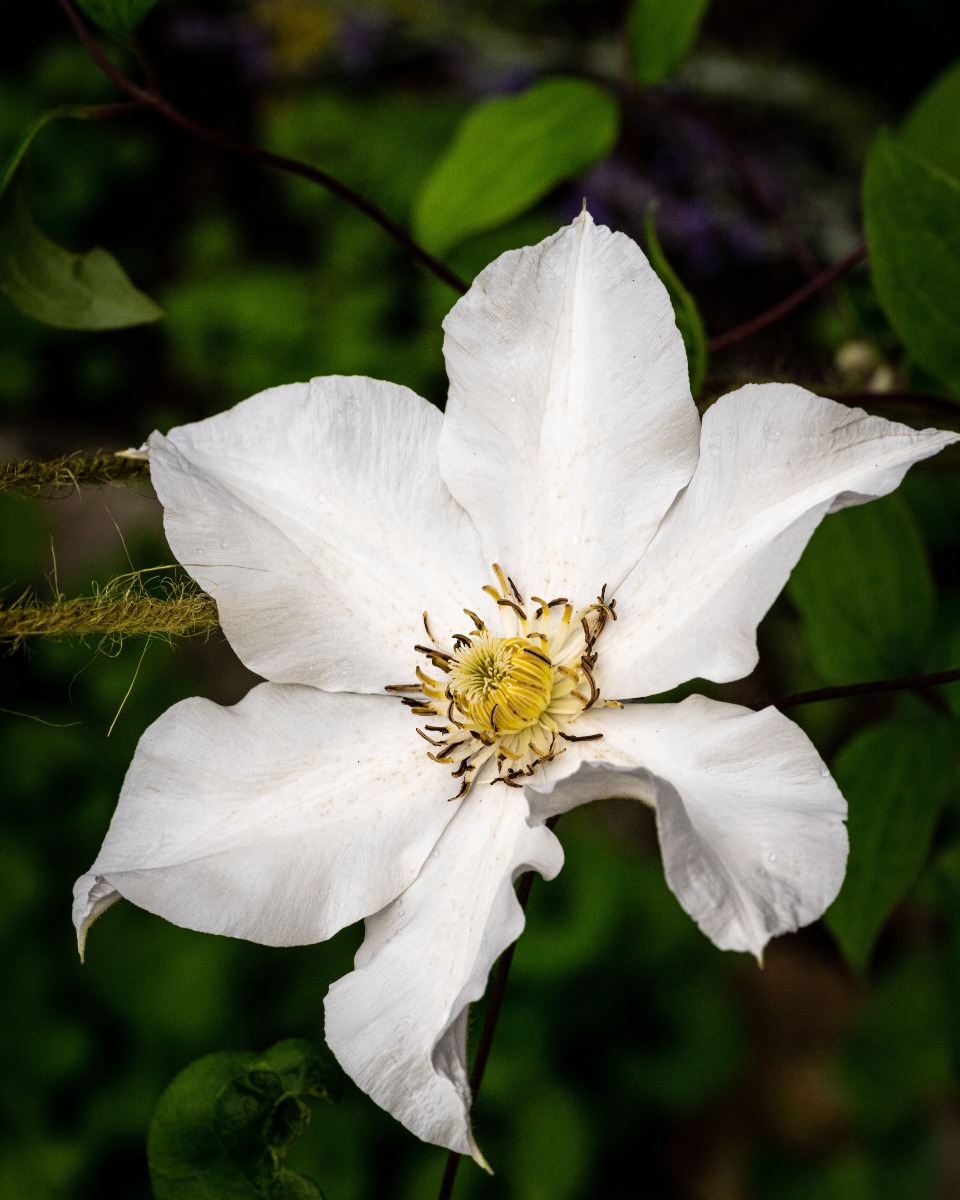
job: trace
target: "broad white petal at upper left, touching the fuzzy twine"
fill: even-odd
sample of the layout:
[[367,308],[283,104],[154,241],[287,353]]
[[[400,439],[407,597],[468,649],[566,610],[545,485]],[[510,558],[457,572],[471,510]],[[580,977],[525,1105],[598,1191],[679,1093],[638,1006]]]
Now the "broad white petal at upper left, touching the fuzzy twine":
[[464,624],[488,581],[437,470],[440,414],[362,377],[292,384],[150,439],[174,553],[275,683],[406,683],[422,613]]

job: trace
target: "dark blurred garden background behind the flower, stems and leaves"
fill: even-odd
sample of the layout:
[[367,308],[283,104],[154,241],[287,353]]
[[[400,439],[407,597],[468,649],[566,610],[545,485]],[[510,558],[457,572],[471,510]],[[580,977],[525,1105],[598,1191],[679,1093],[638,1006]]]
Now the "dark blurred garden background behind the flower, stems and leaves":
[[[642,240],[656,200],[664,252],[720,335],[859,244],[868,146],[955,59],[955,5],[715,0],[683,67],[655,88],[630,83],[626,7],[161,0],[139,35],[164,94],[196,120],[329,170],[403,226],[479,101],[553,73],[610,86],[613,148],[444,258],[469,280],[569,222],[582,197],[598,221]],[[118,98],[54,2],[0,0],[0,157],[47,109]],[[139,77],[132,58],[119,61]],[[37,223],[74,250],[107,245],[164,316],[72,332],[0,296],[0,457],[136,446],[154,428],[316,374],[386,378],[443,403],[439,323],[456,294],[343,200],[148,113],[53,124],[23,169]],[[760,379],[958,427],[902,397],[947,403],[904,359],[864,268],[718,350],[702,400]],[[876,508],[872,517],[815,539],[762,628],[761,670],[703,690],[750,702],[958,665],[956,463],[920,466],[895,499],[856,510]],[[853,562],[851,546],[880,545],[883,530],[888,557]],[[26,589],[86,594],[172,562],[148,485],[2,493],[0,550],[4,602]],[[830,620],[844,598],[820,582],[847,559],[862,596],[902,610],[899,625],[877,613],[863,652]],[[923,628],[911,640],[914,606],[929,619],[913,622]],[[74,948],[71,887],[140,733],[176,700],[230,703],[252,679],[220,635],[35,638],[0,659],[0,1200],[148,1198],[146,1126],[180,1069],[214,1050],[322,1037],[322,998],[349,967],[356,928],[276,950],[121,904],[92,931],[85,965]],[[791,713],[840,756],[848,794],[869,804],[883,793],[894,827],[923,826],[875,944],[876,929],[851,935],[839,919],[778,941],[760,971],[680,911],[646,811],[611,800],[564,817],[566,866],[534,887],[476,1108],[497,1175],[464,1164],[456,1195],[959,1195],[958,712],[960,685]],[[932,766],[911,766],[905,730],[940,739]],[[876,758],[898,738],[892,778]],[[436,1194],[444,1158],[350,1087],[338,1108],[318,1109],[289,1164],[330,1200],[413,1200]]]

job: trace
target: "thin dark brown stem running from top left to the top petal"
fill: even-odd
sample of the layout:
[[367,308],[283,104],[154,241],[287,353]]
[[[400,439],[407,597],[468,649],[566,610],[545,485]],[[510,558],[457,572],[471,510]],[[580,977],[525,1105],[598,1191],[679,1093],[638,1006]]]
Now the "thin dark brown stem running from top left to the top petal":
[[341,182],[341,180],[335,179],[332,175],[328,175],[325,170],[311,167],[305,162],[300,162],[298,158],[288,158],[286,155],[274,154],[272,150],[264,150],[260,146],[248,145],[246,142],[240,142],[238,138],[230,137],[229,133],[223,133],[220,130],[208,128],[208,126],[200,125],[191,116],[187,116],[186,113],[181,113],[179,108],[172,104],[158,91],[150,88],[142,88],[139,84],[136,84],[103,53],[100,42],[97,42],[84,24],[80,14],[72,4],[72,0],[58,0],[58,4],[64,10],[64,13],[66,14],[74,34],[97,64],[100,70],[109,79],[112,79],[121,91],[125,91],[127,96],[131,96],[140,104],[151,108],[155,113],[158,113],[168,121],[178,125],[186,133],[190,133],[192,137],[198,138],[200,142],[205,142],[208,145],[211,145],[217,150],[222,150],[226,154],[240,155],[244,158],[251,158],[253,162],[258,162],[264,167],[272,167],[275,170],[282,170],[289,175],[299,175],[301,179],[307,179],[313,184],[318,184],[320,187],[325,187],[328,192],[332,192],[334,196],[338,196],[348,204],[352,204],[355,209],[366,214],[366,216],[368,216],[372,221],[376,221],[376,223],[385,233],[388,233],[394,241],[397,242],[397,245],[402,246],[428,271],[432,271],[438,280],[454,288],[454,290],[458,292],[461,295],[463,295],[467,290],[464,281],[438,258],[427,253],[427,251],[424,250],[424,247],[407,233],[403,226],[397,224],[397,222],[394,221],[392,217],[389,217],[383,209],[378,208],[365,196],[355,192],[352,187]]

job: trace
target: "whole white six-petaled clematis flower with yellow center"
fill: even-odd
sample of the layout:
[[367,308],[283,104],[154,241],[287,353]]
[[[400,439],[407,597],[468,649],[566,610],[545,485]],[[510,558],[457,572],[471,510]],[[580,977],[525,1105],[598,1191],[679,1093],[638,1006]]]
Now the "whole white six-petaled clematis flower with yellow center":
[[775,709],[692,696],[746,674],[756,626],[829,511],[955,440],[781,384],[702,427],[670,300],[587,214],[488,266],[444,323],[445,415],[404,388],[275,388],[150,438],[167,535],[266,682],[174,706],[140,740],[76,889],[274,946],[359,918],[326,998],[353,1079],[479,1159],[467,1006],[551,878],[548,817],[654,806],[670,887],[720,947],[818,917],[844,800]]

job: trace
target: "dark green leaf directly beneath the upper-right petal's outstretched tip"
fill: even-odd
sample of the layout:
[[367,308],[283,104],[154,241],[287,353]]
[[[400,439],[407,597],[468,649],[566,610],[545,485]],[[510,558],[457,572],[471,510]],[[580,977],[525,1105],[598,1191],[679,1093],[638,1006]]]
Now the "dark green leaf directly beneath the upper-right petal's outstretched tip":
[[787,590],[814,666],[827,683],[922,668],[934,583],[923,539],[899,496],[826,517]]

